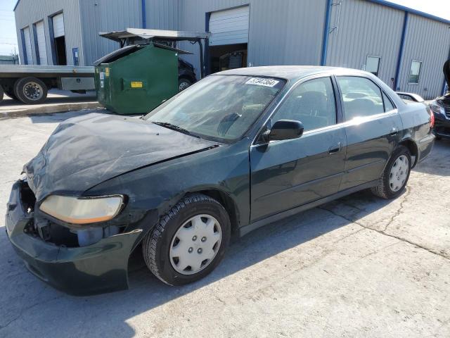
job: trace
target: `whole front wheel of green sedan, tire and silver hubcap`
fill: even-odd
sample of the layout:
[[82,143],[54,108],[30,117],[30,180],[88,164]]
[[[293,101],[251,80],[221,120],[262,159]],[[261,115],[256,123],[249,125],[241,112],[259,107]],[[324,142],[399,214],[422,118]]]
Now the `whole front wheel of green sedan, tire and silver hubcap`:
[[179,201],[143,239],[143,257],[162,282],[195,282],[219,265],[230,234],[225,208],[210,196],[193,194]]

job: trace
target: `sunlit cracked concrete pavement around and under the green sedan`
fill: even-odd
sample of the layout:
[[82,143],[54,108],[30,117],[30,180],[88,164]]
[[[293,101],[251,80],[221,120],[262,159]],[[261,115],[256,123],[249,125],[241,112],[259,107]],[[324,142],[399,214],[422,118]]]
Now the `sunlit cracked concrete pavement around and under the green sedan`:
[[[0,206],[57,123],[0,120]],[[131,258],[130,289],[76,298],[37,280],[0,218],[0,337],[450,337],[450,142],[385,201],[359,192],[231,244],[204,280],[168,287]]]

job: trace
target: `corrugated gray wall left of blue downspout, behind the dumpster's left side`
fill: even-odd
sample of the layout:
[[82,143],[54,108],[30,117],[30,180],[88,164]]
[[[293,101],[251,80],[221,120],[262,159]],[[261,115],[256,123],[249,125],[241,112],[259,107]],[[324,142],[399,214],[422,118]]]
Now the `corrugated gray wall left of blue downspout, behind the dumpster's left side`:
[[84,42],[84,57],[80,56],[80,60],[84,65],[119,48],[117,42],[99,37],[99,32],[142,27],[141,0],[79,0],[79,6]]

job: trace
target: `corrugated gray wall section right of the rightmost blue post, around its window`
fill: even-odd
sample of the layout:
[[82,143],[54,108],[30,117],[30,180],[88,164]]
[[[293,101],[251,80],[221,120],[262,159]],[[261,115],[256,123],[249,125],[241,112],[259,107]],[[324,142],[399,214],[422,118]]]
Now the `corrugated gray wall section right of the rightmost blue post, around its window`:
[[[424,99],[441,95],[444,84],[442,67],[449,58],[449,49],[448,24],[410,14],[399,74],[400,90],[419,94]],[[422,62],[418,84],[408,84],[412,61]]]

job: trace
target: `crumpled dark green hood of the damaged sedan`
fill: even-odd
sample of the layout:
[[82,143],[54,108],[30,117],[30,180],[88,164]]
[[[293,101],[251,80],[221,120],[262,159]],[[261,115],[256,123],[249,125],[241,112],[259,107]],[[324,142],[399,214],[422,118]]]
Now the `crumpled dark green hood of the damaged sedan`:
[[214,146],[146,120],[92,113],[60,123],[23,171],[41,201],[51,193],[80,194],[130,170]]

